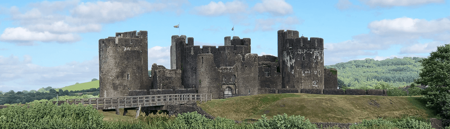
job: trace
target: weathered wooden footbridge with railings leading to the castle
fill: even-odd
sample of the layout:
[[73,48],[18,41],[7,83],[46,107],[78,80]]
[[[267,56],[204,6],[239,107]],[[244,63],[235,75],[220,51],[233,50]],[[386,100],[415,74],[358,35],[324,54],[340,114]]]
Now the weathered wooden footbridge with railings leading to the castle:
[[137,110],[136,118],[139,116],[141,107],[149,107],[149,110],[167,110],[167,105],[184,104],[190,101],[207,102],[212,99],[211,93],[185,93],[185,94],[161,94],[144,96],[124,96],[106,98],[77,98],[67,99],[68,104],[92,105],[97,110],[116,111],[124,108],[123,115],[127,110]]

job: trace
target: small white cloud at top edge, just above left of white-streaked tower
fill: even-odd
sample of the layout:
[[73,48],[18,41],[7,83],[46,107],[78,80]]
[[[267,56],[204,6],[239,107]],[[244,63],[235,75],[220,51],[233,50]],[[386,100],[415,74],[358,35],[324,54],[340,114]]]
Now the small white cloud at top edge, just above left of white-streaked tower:
[[259,13],[270,13],[275,16],[293,13],[292,5],[284,0],[262,0],[262,3],[255,4],[253,10]]

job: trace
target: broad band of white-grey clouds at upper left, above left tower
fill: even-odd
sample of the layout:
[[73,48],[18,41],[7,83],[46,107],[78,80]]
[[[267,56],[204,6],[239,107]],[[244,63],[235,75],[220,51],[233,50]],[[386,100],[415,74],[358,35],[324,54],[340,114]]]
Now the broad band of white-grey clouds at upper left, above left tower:
[[78,33],[101,31],[102,23],[124,21],[152,11],[181,13],[181,6],[186,3],[189,2],[164,0],[149,3],[130,0],[80,3],[79,0],[66,0],[32,3],[23,9],[13,6],[9,9],[10,19],[17,22],[19,27],[6,28],[0,39],[18,45],[35,45],[34,41],[76,42],[81,40]]

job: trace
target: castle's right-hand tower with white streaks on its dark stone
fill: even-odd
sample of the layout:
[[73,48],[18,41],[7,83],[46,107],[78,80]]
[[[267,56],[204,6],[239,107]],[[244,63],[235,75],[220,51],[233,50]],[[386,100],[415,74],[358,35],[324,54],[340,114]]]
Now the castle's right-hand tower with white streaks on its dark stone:
[[298,31],[278,31],[282,87],[324,89],[324,40],[298,37]]

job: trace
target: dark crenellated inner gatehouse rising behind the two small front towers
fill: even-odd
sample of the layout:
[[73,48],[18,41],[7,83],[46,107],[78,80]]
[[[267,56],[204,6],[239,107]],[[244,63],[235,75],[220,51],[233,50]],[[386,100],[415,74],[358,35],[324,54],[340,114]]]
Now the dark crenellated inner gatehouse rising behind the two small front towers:
[[[173,60],[173,65],[175,69],[181,69],[182,74],[182,85],[184,88],[194,88],[198,81],[197,73],[197,62],[196,60],[198,54],[211,53],[214,55],[214,64],[210,67],[233,67],[236,63],[236,55],[245,55],[250,53],[250,39],[243,38],[240,39],[238,36],[234,36],[234,39],[230,37],[225,37],[225,46],[207,46],[204,45],[202,48],[200,46],[194,46],[193,38],[188,38],[188,43],[184,42],[185,36],[172,36],[172,46],[171,60]],[[180,47],[184,47],[181,49]],[[173,51],[173,52],[172,52]],[[181,52],[181,53],[178,53]],[[180,56],[179,56],[180,55]],[[182,57],[182,58],[179,58]]]

